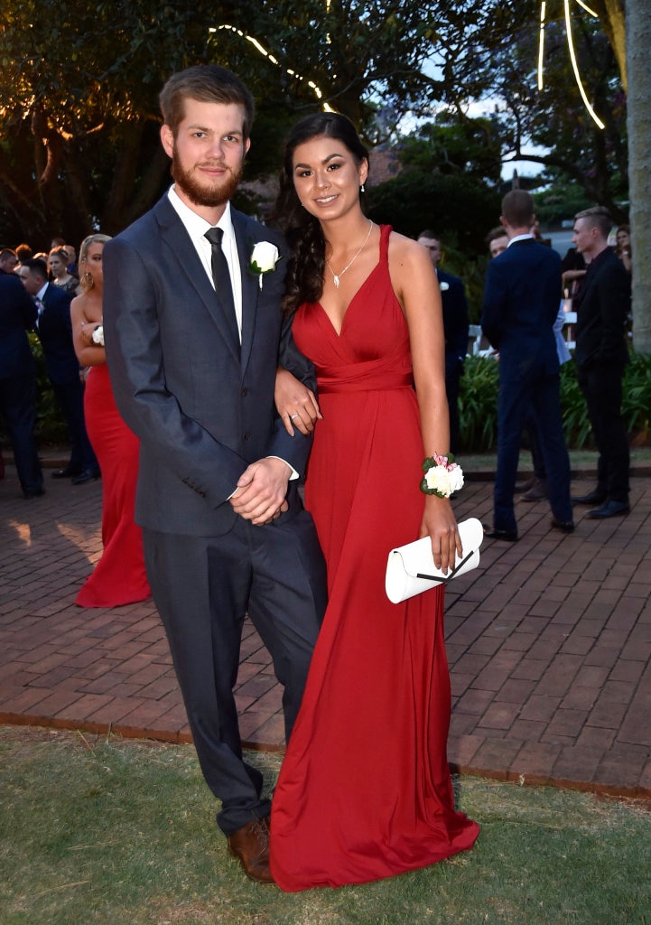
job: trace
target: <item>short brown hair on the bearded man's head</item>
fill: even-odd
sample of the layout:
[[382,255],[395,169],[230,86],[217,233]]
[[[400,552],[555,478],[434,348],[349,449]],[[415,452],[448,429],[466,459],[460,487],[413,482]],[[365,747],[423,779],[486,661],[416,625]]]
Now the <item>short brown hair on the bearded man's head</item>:
[[203,64],[172,74],[160,93],[159,102],[165,123],[175,138],[187,99],[199,103],[239,104],[244,110],[244,138],[249,138],[255,104],[252,94],[232,71],[217,64]]

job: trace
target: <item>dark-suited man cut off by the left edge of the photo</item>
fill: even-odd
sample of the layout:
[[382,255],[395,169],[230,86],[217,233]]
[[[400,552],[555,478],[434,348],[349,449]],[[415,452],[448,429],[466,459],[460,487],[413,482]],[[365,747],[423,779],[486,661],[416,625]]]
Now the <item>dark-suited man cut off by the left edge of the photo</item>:
[[36,307],[13,272],[18,257],[0,250],[0,414],[14,451],[18,480],[25,498],[43,495],[43,472],[34,442],[36,365],[27,331]]

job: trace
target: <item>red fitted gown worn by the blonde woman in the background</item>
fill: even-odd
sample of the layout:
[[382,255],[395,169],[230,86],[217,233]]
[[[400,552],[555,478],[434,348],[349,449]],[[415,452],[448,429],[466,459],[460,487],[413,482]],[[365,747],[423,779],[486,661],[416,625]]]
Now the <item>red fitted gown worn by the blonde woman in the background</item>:
[[84,393],[86,430],[102,470],[102,558],[75,598],[80,607],[120,607],[152,594],[141,528],[134,520],[139,441],[117,412],[106,364],[92,366]]

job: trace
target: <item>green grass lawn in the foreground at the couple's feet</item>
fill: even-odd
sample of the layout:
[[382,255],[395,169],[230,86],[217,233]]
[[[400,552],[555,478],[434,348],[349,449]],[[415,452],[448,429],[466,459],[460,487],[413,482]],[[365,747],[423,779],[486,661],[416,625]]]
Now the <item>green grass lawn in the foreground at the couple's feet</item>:
[[283,894],[227,856],[191,746],[0,727],[0,767],[2,925],[651,923],[648,804],[462,778],[472,852]]

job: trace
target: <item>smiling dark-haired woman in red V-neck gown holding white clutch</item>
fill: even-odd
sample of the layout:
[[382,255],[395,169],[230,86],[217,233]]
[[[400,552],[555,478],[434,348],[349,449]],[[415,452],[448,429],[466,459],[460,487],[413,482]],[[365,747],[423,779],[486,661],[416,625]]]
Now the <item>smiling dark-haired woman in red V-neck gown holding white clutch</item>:
[[[461,551],[449,499],[420,491],[448,453],[444,335],[427,253],[362,213],[368,155],[349,120],[301,120],[278,203],[292,257],[286,308],[316,368],[305,505],[325,554],[328,607],[272,804],[270,867],[284,890],[360,883],[470,848],[454,808],[443,586],[389,602],[390,549],[430,536]],[[415,389],[413,386],[415,385]],[[313,399],[285,372],[278,411],[310,430]]]

